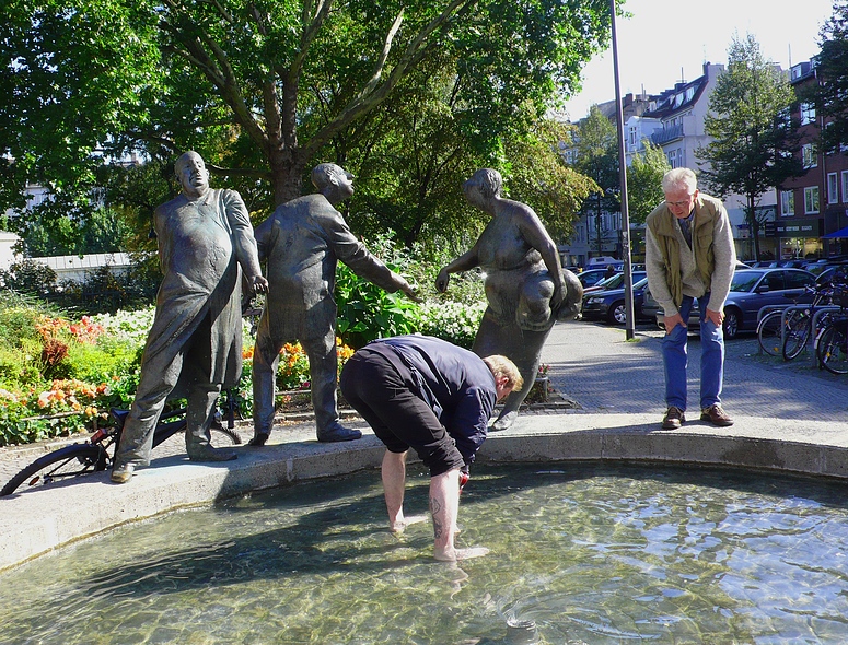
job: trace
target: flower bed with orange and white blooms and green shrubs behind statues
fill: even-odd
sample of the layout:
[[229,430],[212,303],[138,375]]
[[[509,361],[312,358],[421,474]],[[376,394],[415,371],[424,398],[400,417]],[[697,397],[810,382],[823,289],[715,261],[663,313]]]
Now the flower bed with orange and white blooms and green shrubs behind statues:
[[[486,307],[477,272],[457,275],[450,297],[435,294],[433,282],[449,261],[446,248],[431,249],[427,261],[414,259],[388,237],[377,237],[371,250],[417,283],[428,302],[418,305],[402,295],[385,294],[339,267],[338,330],[367,340],[410,333],[443,338],[471,348]],[[342,315],[342,310],[348,316]],[[26,443],[90,427],[108,408],[128,408],[140,376],[140,360],[153,307],[84,316],[70,321],[34,297],[7,292],[0,297],[0,445]],[[365,325],[362,325],[362,322]],[[344,335],[342,335],[344,336]],[[48,345],[55,351],[45,360]],[[245,362],[234,402],[242,418],[251,414],[253,339],[245,337]],[[59,351],[61,350],[61,351]],[[48,352],[49,353],[49,352]],[[339,365],[352,354],[338,347]],[[309,362],[300,344],[286,345],[280,356],[278,387],[309,387]]]

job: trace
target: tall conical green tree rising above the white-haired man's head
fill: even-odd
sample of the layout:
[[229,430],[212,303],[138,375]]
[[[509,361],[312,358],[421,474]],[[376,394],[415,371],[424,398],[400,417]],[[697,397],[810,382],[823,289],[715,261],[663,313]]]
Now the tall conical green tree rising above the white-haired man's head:
[[716,82],[704,129],[713,141],[696,154],[709,162],[701,178],[715,194],[746,199],[745,219],[759,257],[757,204],[767,190],[803,173],[798,140],[789,119],[795,96],[786,75],[763,57],[748,34],[735,36],[728,50],[728,69]]

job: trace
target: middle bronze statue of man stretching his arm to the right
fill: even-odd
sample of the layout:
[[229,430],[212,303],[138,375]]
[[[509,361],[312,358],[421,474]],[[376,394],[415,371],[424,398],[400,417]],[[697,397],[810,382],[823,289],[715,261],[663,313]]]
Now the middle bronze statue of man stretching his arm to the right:
[[270,291],[259,319],[253,356],[254,437],[263,446],[274,425],[274,394],[280,349],[300,340],[310,361],[312,406],[320,442],[358,439],[362,433],[341,425],[336,400],[336,263],[390,293],[415,290],[372,256],[356,238],[335,206],[353,195],[353,176],[336,164],[312,171],[318,194],[277,207],[256,227],[259,256],[268,260]]

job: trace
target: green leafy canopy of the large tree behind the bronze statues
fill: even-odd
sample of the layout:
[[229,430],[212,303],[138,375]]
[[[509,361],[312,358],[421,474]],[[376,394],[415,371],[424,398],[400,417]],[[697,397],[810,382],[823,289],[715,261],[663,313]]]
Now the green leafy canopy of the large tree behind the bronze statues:
[[[0,55],[14,62],[0,73],[0,207],[22,208],[27,180],[49,187],[55,201],[32,226],[44,249],[70,247],[94,216],[104,159],[140,152],[159,166],[188,149],[259,215],[298,197],[316,161],[336,161],[361,177],[357,213],[386,218],[407,245],[455,239],[454,228],[479,223],[456,208],[457,179],[502,168],[504,141],[532,134],[579,89],[609,34],[601,0],[5,9]],[[127,190],[104,208],[143,221],[150,207],[136,198],[153,192]]]

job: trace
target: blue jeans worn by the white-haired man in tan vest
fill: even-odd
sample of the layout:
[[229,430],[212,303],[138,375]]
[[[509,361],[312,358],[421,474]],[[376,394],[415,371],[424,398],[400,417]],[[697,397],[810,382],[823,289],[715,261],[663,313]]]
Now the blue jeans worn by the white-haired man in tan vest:
[[[724,380],[724,335],[707,320],[707,303],[710,294],[698,298],[700,307],[700,407],[709,408],[721,402],[721,386]],[[683,296],[679,312],[688,322],[695,298]],[[665,370],[665,403],[686,409],[686,366],[688,364],[687,330],[677,325],[662,341],[662,362]]]

